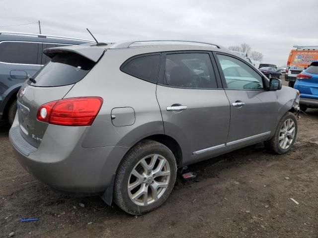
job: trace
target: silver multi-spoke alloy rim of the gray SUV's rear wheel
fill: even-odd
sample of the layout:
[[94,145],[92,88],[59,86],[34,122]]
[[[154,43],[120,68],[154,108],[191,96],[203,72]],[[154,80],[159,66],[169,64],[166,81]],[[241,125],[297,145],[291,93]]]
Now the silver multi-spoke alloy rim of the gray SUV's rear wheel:
[[128,194],[139,206],[157,201],[166,190],[170,180],[168,161],[159,154],[141,159],[130,173]]

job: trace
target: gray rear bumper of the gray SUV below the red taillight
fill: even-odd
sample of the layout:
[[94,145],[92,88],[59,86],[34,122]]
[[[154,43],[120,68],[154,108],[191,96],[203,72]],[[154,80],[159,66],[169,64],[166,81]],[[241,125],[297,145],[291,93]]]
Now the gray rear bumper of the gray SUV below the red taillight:
[[11,127],[9,139],[17,160],[35,178],[57,190],[89,195],[107,189],[128,148],[83,148],[86,129],[49,125],[39,148],[21,136],[19,126]]

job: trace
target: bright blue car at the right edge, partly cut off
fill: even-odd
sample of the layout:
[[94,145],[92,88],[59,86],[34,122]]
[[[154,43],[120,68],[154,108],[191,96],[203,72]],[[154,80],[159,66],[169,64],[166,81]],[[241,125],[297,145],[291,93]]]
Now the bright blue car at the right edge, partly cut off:
[[297,75],[294,85],[300,92],[300,109],[318,108],[318,61],[312,62],[307,69]]

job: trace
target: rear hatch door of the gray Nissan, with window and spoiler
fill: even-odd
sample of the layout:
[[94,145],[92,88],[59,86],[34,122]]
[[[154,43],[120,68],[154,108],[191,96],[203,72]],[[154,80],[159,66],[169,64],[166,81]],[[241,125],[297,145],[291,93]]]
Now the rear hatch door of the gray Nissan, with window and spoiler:
[[74,84],[86,76],[105,51],[96,48],[71,46],[44,51],[52,60],[26,81],[17,95],[21,134],[31,145],[40,145],[48,126],[48,123],[37,120],[39,108],[63,99]]

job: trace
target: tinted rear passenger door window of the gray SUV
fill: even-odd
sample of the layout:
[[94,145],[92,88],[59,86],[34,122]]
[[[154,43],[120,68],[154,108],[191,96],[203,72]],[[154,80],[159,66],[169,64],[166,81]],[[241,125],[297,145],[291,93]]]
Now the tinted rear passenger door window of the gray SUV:
[[163,83],[180,88],[217,88],[209,54],[167,54]]

